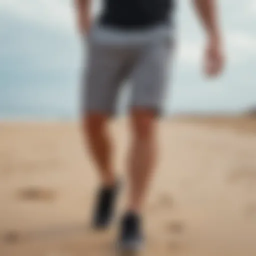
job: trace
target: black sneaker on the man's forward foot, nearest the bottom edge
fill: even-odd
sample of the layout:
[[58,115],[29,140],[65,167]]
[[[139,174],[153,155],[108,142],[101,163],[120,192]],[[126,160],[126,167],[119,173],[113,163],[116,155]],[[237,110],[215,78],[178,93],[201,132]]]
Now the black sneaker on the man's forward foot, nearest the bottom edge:
[[123,216],[117,248],[122,251],[138,251],[143,246],[141,217],[132,212]]

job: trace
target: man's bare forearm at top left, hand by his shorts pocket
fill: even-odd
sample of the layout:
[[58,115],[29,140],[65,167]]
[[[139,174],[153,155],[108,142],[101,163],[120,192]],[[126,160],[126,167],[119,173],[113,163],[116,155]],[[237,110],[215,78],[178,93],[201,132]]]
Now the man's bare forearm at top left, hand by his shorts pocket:
[[74,0],[77,11],[77,24],[80,33],[83,35],[90,29],[91,0]]

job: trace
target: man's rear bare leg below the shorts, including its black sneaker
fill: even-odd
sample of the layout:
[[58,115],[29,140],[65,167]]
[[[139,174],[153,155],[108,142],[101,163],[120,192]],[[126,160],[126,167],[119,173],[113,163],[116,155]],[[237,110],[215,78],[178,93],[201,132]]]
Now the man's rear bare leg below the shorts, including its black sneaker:
[[107,133],[107,121],[108,116],[103,113],[89,113],[83,120],[84,134],[101,181],[93,211],[93,228],[106,228],[110,224],[118,192],[118,183],[111,162],[111,141]]

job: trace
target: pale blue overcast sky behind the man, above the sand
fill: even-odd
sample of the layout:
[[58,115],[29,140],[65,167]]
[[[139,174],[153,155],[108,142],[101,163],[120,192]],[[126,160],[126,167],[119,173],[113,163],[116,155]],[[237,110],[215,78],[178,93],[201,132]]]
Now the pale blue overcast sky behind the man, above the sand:
[[[94,3],[97,11],[100,0]],[[201,75],[203,30],[191,1],[178,1],[169,110],[242,111],[256,105],[256,1],[219,3],[227,65],[221,79],[207,81]],[[28,96],[71,107],[81,63],[79,39],[71,0],[0,0],[0,101],[5,102],[0,112],[14,101],[25,104],[22,98]],[[47,90],[37,93],[40,86]]]

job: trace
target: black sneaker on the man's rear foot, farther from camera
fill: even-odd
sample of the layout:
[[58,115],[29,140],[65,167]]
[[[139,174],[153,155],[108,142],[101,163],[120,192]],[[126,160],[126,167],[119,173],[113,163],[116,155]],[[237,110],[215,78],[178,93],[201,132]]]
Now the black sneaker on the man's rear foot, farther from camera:
[[114,206],[118,189],[119,184],[116,183],[112,187],[102,187],[99,190],[93,212],[93,228],[101,229],[109,226],[114,214]]

